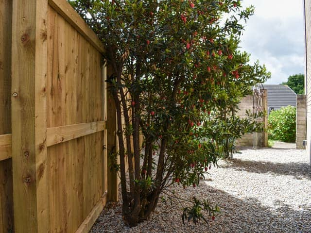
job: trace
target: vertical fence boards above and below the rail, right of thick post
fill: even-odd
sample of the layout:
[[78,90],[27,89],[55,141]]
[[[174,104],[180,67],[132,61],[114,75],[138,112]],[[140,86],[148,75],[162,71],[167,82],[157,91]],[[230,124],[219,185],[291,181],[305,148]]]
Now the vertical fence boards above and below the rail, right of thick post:
[[[47,127],[104,121],[102,56],[48,11]],[[75,232],[106,191],[104,131],[48,148],[51,232]]]

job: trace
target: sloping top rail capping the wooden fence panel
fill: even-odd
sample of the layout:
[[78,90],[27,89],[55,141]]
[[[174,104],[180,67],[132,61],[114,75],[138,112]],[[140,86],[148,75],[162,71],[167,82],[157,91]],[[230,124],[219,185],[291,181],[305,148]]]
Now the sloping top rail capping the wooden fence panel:
[[101,53],[104,52],[102,42],[66,0],[49,0],[49,4],[58,14],[64,17],[75,30],[81,33],[92,46]]

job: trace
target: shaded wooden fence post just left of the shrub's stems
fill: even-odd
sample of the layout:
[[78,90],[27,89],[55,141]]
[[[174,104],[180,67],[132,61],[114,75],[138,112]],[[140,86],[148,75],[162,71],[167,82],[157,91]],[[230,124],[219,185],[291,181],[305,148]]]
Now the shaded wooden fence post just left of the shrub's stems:
[[[108,66],[107,77],[111,74],[112,68]],[[108,200],[118,201],[118,173],[116,170],[111,169],[113,161],[109,158],[110,153],[116,153],[117,151],[117,116],[116,106],[109,91],[107,91],[107,100]]]

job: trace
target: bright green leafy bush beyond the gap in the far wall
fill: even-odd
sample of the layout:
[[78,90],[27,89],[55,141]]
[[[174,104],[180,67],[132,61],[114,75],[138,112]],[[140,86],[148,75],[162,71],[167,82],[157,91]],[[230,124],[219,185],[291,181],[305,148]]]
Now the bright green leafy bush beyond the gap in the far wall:
[[268,129],[271,139],[294,142],[296,139],[296,108],[289,105],[272,111],[268,117]]

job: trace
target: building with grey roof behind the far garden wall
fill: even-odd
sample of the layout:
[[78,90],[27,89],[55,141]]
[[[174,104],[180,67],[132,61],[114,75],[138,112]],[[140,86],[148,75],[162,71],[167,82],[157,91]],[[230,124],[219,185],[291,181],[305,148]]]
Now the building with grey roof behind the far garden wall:
[[268,115],[270,111],[286,107],[296,107],[296,93],[288,85],[263,84],[268,99]]

